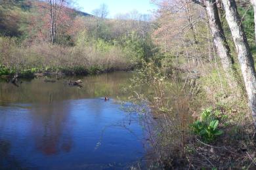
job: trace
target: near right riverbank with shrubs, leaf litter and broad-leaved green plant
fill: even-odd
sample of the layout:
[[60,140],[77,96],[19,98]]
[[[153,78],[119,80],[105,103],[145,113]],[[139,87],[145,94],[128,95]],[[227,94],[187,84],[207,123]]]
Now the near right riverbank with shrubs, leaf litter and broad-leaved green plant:
[[255,168],[255,128],[246,96],[236,95],[221,69],[194,67],[200,76],[169,70],[147,63],[125,88],[131,102],[148,103],[157,122],[149,137],[158,155],[152,168]]

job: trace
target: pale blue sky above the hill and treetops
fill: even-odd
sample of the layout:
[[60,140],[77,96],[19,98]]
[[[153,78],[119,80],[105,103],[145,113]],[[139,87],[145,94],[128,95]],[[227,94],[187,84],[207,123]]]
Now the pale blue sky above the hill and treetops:
[[89,14],[104,3],[110,11],[108,18],[114,18],[116,14],[125,14],[132,10],[138,10],[141,14],[150,14],[150,10],[156,9],[150,0],[77,0],[76,2],[80,10]]

